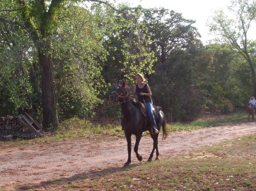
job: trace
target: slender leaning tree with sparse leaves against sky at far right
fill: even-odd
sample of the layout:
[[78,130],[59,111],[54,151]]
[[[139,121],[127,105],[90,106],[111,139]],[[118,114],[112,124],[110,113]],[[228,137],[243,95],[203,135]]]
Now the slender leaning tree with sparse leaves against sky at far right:
[[247,61],[251,72],[251,84],[253,94],[256,96],[255,77],[255,40],[249,39],[249,31],[256,23],[256,1],[234,0],[231,1],[229,11],[234,14],[235,19],[228,19],[223,10],[216,11],[212,22],[208,23],[210,31],[220,36],[217,41],[224,41],[233,46]]

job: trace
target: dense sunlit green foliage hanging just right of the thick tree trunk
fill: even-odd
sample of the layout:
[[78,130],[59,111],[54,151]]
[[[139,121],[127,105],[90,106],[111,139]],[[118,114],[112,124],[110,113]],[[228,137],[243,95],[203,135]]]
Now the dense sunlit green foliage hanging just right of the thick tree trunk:
[[98,95],[107,90],[100,65],[107,52],[101,43],[103,33],[97,27],[99,18],[82,7],[66,8],[59,11],[59,27],[51,40],[56,99],[61,117],[85,116],[93,114],[92,109],[102,103]]

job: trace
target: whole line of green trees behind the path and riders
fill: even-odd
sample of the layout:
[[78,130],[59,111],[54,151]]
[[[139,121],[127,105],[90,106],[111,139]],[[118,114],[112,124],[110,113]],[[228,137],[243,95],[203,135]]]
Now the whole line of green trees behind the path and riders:
[[[133,92],[138,72],[147,77],[154,104],[169,120],[192,121],[206,109],[226,113],[243,107],[256,89],[256,43],[246,36],[256,8],[253,0],[237,2],[238,10],[251,7],[243,15],[254,16],[237,22],[237,28],[225,16],[216,19],[221,12],[213,15],[211,30],[223,32],[222,39],[207,45],[193,27],[195,20],[164,8],[105,1],[0,2],[0,116],[30,109],[44,130],[73,116],[118,117],[109,92],[122,80]],[[232,27],[242,29],[242,38]]]

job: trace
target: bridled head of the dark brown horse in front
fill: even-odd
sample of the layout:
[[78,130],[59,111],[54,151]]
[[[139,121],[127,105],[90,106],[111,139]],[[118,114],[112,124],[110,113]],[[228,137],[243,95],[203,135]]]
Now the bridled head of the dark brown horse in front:
[[109,100],[112,101],[112,103],[118,103],[118,101],[120,103],[125,102],[127,99],[127,96],[128,96],[126,88],[127,88],[127,86],[126,86],[125,82],[123,82],[122,86],[118,86],[110,94]]

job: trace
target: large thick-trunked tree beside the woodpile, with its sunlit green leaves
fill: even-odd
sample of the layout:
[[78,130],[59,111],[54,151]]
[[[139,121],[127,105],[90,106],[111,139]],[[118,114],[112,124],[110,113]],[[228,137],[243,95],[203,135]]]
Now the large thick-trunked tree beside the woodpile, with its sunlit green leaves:
[[[108,55],[103,45],[106,40],[117,37],[122,41],[123,60],[117,63],[123,66],[123,76],[131,78],[138,67],[150,71],[154,54],[143,49],[142,27],[136,14],[122,11],[126,7],[117,10],[100,0],[10,0],[1,5],[5,9],[0,22],[18,28],[22,35],[11,31],[17,39],[26,36],[32,42],[22,53],[30,63],[30,78],[40,80],[31,87],[38,86],[38,97],[42,97],[44,130],[57,128],[57,112],[67,108],[89,112],[102,103],[98,96],[107,88],[101,76],[101,63]],[[121,22],[115,24],[114,19]]]

